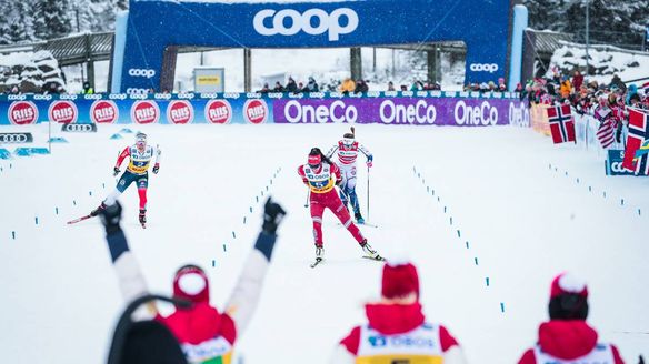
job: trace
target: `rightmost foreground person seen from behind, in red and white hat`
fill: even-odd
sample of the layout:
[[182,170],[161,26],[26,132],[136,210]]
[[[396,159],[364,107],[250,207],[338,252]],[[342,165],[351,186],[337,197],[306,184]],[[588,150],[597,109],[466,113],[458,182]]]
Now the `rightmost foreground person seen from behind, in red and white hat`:
[[613,363],[623,364],[618,348],[599,343],[597,331],[586,323],[588,287],[578,277],[559,274],[550,287],[550,321],[539,326],[537,345],[519,364]]

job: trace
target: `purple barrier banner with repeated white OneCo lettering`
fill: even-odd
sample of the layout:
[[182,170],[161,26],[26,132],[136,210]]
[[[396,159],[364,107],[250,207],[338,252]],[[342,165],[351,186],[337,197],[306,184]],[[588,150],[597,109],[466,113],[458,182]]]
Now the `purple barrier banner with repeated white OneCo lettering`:
[[489,127],[529,124],[525,103],[502,99],[347,98],[277,100],[276,123]]

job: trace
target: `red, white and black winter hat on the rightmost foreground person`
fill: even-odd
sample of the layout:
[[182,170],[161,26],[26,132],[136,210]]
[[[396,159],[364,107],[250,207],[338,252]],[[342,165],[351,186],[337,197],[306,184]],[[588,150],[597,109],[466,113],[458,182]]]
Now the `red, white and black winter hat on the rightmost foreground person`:
[[550,285],[548,305],[551,320],[586,320],[588,317],[588,287],[586,282],[570,273],[561,273]]

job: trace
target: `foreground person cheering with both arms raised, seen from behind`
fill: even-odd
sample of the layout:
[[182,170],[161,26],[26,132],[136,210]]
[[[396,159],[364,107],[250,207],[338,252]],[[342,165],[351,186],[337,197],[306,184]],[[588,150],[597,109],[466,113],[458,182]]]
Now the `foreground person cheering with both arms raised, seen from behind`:
[[[121,229],[121,210],[119,202],[116,202],[106,206],[100,212],[100,218],[106,226],[106,240],[119,285],[124,299],[131,301],[147,295],[148,289]],[[164,331],[160,335],[147,335],[146,328],[153,326],[140,326],[140,335],[137,337],[127,335],[126,343],[121,345],[126,348],[124,352],[119,354],[119,361],[116,360],[111,364],[230,363],[233,347],[250,323],[261,297],[263,280],[274,250],[277,228],[284,214],[286,211],[279,204],[267,200],[262,231],[243,265],[224,311],[219,311],[210,304],[208,275],[192,264],[180,267],[173,279],[173,297],[187,304],[177,304],[176,310],[168,316],[158,313],[154,305],[149,306],[150,314],[154,314],[153,321],[164,326],[176,338],[176,346],[180,346],[184,362],[173,361],[168,356],[178,353],[173,347],[169,347],[174,343],[173,340],[164,337]],[[147,314],[144,316],[147,317],[142,318],[150,318]],[[146,352],[137,350],[147,347],[144,345],[147,343],[151,344],[148,347],[152,346],[154,350]]]

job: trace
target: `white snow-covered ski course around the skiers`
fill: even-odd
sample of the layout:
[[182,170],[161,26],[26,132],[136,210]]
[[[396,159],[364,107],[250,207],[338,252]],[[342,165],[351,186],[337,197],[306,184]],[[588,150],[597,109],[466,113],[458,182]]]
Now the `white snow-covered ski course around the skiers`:
[[[64,222],[113,188],[117,151],[132,142],[109,140],[122,127],[64,134],[70,143],[54,144],[49,156],[0,161],[3,362],[106,361],[124,303],[102,226]],[[311,146],[329,148],[347,128],[140,129],[163,150],[160,174],[150,179],[149,228],[137,223],[134,190],[122,204],[150,289],[169,294],[176,269],[194,262],[210,276],[211,302],[222,307],[259,231],[262,200],[272,193],[289,214],[237,352],[247,364],[327,363],[337,341],[362,322],[362,303],[378,297],[381,264],[360,259],[327,213],[328,261],[308,266],[311,222],[296,168]],[[47,124],[31,131],[43,145]],[[417,263],[429,320],[451,330],[470,363],[516,362],[547,318],[551,279],[566,270],[587,280],[589,321],[601,340],[617,343],[631,363],[649,355],[649,179],[607,178],[592,154],[555,146],[528,129],[359,125],[357,135],[376,156],[369,220],[379,225],[361,230],[386,256],[405,252]],[[362,168],[359,179],[365,212]]]

